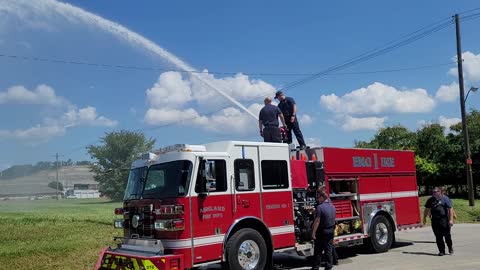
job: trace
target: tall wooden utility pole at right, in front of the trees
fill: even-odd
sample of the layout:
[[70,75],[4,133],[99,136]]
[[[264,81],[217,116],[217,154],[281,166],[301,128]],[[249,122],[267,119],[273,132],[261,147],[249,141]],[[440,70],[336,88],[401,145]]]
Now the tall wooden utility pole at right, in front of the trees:
[[472,178],[472,158],[470,154],[470,142],[468,139],[467,117],[465,113],[465,90],[463,85],[463,59],[462,44],[460,39],[460,18],[455,14],[455,29],[457,33],[457,65],[458,65],[458,84],[460,86],[460,108],[462,111],[462,131],[463,143],[465,146],[465,165],[467,172],[468,202],[470,206],[475,206],[475,190]]

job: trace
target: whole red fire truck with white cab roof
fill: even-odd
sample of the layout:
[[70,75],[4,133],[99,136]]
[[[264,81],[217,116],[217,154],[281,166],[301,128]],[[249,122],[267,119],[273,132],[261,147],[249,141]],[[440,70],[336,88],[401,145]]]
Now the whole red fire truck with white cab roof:
[[131,165],[115,248],[96,269],[180,270],[272,265],[311,254],[311,209],[323,186],[336,207],[334,243],[386,252],[421,226],[414,153],[225,141],[174,145]]

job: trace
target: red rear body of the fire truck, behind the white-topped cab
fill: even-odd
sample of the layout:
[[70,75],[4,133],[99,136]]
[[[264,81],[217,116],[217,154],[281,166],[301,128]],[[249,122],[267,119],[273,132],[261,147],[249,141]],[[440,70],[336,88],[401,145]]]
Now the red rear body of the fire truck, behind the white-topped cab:
[[[412,151],[325,147],[292,151],[291,159],[296,209],[313,206],[314,193],[309,191],[325,186],[337,210],[336,245],[366,243],[375,252],[385,252],[395,231],[421,227]],[[304,193],[307,200],[300,199]],[[313,217],[296,213],[297,231],[308,236]]]

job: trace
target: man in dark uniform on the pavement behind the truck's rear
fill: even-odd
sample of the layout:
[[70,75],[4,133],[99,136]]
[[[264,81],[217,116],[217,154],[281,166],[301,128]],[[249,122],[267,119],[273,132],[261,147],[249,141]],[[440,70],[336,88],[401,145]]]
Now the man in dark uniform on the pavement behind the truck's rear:
[[[450,235],[450,228],[453,226],[453,211],[451,209],[451,201],[443,196],[440,188],[434,188],[433,196],[425,203],[423,224],[427,223],[427,216],[430,216],[439,251],[438,256],[445,255],[445,242],[448,252],[453,254],[452,236]],[[443,242],[444,238],[445,242]]]

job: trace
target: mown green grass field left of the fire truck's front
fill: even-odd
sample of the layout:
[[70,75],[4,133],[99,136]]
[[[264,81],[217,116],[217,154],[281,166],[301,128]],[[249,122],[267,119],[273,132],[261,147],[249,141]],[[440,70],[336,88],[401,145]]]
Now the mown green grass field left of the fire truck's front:
[[0,269],[93,269],[114,245],[113,210],[102,199],[0,201]]

